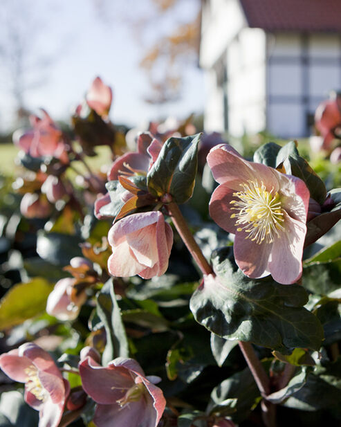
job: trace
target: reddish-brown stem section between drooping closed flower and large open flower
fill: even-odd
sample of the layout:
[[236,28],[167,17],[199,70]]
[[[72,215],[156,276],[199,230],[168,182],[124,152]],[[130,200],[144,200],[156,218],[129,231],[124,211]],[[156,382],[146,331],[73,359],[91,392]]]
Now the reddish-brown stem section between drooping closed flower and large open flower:
[[176,230],[178,231],[181,239],[183,239],[183,242],[187,246],[188,251],[190,251],[196,264],[198,264],[203,275],[214,274],[212,267],[203,256],[201,248],[199,248],[199,245],[196,243],[190,229],[188,228],[187,222],[185,221],[178,205],[172,201],[167,204],[167,208]]

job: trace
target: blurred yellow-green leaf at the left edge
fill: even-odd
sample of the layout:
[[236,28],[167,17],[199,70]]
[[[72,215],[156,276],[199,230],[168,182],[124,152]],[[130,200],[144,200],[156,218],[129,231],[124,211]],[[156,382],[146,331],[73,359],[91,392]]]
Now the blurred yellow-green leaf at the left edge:
[[0,330],[43,313],[52,290],[53,285],[44,278],[34,278],[11,287],[0,300]]

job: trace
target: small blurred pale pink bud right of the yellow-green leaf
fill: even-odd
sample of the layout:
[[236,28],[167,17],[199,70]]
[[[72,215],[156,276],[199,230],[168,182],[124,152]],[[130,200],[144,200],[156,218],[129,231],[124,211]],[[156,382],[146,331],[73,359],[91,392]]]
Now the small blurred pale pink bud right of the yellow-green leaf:
[[75,320],[80,308],[86,301],[86,293],[81,291],[77,295],[74,284],[75,278],[58,280],[46,303],[46,312],[59,320]]

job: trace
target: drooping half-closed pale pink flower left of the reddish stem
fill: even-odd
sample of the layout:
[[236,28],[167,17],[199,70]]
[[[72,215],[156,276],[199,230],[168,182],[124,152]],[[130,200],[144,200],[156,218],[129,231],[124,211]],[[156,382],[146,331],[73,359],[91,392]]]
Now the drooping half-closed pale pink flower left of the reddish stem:
[[108,241],[113,248],[109,273],[150,279],[167,270],[173,231],[161,212],[141,212],[116,222],[109,230]]

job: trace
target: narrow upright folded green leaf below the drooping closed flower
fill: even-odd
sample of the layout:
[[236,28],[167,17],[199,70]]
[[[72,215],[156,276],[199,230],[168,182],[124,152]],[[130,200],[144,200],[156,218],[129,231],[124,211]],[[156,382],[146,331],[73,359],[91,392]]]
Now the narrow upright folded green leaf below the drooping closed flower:
[[109,279],[98,293],[96,308],[107,333],[107,344],[102,354],[102,364],[107,365],[116,357],[128,357],[127,335],[122,322],[120,307],[118,307],[113,291],[112,279]]

